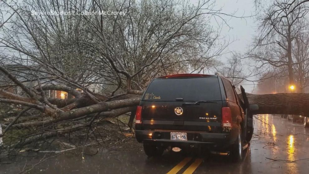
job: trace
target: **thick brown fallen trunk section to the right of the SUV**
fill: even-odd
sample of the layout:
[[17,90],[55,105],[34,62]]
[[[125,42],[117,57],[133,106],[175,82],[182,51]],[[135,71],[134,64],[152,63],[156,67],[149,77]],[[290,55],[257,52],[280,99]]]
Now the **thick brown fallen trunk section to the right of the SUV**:
[[[309,94],[247,94],[250,104],[258,104],[254,114],[309,115]],[[241,95],[240,95],[241,97]]]

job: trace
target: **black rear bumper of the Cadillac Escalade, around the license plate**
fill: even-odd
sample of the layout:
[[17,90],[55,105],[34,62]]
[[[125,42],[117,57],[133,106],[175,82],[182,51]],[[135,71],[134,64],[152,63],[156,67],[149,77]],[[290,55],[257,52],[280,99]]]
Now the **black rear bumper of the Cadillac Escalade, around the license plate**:
[[[170,140],[171,132],[186,132],[188,141]],[[232,133],[205,133],[179,130],[135,130],[135,137],[139,143],[158,146],[207,146],[210,148],[226,148],[233,144],[236,136]]]

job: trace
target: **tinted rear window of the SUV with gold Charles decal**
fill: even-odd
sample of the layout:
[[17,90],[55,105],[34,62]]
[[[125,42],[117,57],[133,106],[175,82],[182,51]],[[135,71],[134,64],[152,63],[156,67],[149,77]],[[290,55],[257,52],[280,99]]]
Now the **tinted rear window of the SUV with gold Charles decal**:
[[167,78],[151,82],[142,100],[145,101],[219,101],[221,92],[218,78]]

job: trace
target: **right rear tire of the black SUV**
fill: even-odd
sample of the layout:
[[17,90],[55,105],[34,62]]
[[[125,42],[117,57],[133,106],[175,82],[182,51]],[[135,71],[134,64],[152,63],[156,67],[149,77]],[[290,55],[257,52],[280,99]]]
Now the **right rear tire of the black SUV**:
[[241,162],[242,161],[242,150],[243,142],[242,142],[242,134],[241,129],[238,130],[237,139],[235,144],[231,147],[230,158],[233,162]]

